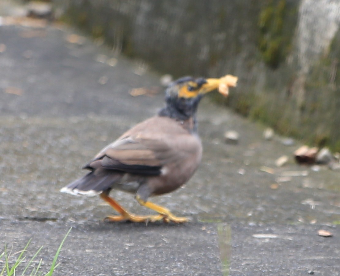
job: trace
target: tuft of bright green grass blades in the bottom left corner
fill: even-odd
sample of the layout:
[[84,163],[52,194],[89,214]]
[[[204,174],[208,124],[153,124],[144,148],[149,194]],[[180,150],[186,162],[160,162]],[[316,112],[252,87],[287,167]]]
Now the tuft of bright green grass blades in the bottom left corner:
[[[30,276],[41,276],[41,275],[44,275],[44,276],[52,276],[53,275],[53,272],[54,270],[56,269],[56,267],[60,264],[60,263],[56,263],[57,262],[57,259],[58,259],[58,256],[59,256],[59,253],[60,253],[60,250],[62,249],[62,246],[68,236],[68,234],[71,232],[71,229],[72,227],[70,228],[70,230],[68,230],[68,232],[66,233],[64,239],[62,240],[61,244],[59,245],[59,248],[57,250],[57,252],[55,253],[54,255],[54,258],[53,258],[53,261],[52,261],[52,264],[51,264],[51,267],[50,267],[50,271],[46,274],[43,274],[43,272],[41,272],[41,263],[43,261],[43,259],[40,259],[39,260],[39,263],[36,265],[36,266],[33,266],[31,267],[31,264],[32,262],[36,259],[36,257],[38,256],[40,250],[43,248],[43,246],[41,246],[38,251],[34,254],[34,256],[31,258],[31,260],[28,262],[28,264],[23,267],[23,272],[21,273],[21,275],[30,275]],[[15,254],[11,254],[12,251],[8,252],[7,251],[7,247],[5,245],[5,248],[4,248],[4,251],[0,254],[0,261],[2,258],[4,258],[4,266],[2,267],[1,271],[0,271],[0,276],[3,276],[3,275],[7,275],[7,276],[15,276],[16,275],[16,270],[17,268],[20,266],[20,264],[26,259],[26,256],[24,255],[26,252],[27,252],[27,248],[29,246],[31,242],[31,239],[28,241],[28,243],[26,244],[26,246],[24,247],[24,249],[22,249],[21,251],[15,253]],[[15,256],[19,254],[18,257],[16,257],[15,259],[15,263],[10,265],[10,261],[11,259]],[[31,273],[28,274],[28,270],[31,269]],[[27,272],[27,274],[25,274]],[[4,274],[4,273],[7,273],[7,274]]]

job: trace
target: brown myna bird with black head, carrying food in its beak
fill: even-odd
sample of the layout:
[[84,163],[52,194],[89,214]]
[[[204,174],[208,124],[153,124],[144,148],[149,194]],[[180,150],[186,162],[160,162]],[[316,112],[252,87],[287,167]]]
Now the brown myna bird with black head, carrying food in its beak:
[[[148,198],[172,192],[190,179],[202,156],[202,144],[197,134],[198,104],[207,92],[216,88],[226,95],[228,86],[235,86],[236,81],[237,78],[231,75],[220,79],[184,77],[174,81],[166,89],[166,106],[157,116],[139,123],[102,149],[83,167],[90,172],[61,192],[99,194],[119,213],[106,217],[108,221],[188,221]],[[113,189],[135,194],[140,205],[158,214],[129,213],[109,197]]]

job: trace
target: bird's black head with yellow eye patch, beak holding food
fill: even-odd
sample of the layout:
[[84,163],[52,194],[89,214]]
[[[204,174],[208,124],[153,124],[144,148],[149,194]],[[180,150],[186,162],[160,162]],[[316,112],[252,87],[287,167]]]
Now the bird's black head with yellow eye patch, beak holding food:
[[227,75],[214,78],[183,77],[172,82],[166,90],[167,107],[160,112],[161,116],[186,120],[192,117],[202,97],[210,91],[218,89],[227,95],[229,86],[236,86],[237,77]]

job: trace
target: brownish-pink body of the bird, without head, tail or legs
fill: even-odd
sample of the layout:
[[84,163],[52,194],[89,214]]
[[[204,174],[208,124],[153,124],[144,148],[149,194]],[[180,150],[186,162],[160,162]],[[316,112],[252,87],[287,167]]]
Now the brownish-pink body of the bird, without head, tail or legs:
[[201,161],[201,141],[190,133],[192,127],[191,119],[181,122],[168,117],[149,118],[105,147],[87,167],[115,170],[119,168],[116,161],[130,166],[146,166],[146,171],[147,167],[157,167],[155,170],[159,170],[159,175],[116,171],[119,177],[113,177],[110,188],[136,193],[146,185],[140,190],[144,200],[148,196],[172,192],[190,179]]

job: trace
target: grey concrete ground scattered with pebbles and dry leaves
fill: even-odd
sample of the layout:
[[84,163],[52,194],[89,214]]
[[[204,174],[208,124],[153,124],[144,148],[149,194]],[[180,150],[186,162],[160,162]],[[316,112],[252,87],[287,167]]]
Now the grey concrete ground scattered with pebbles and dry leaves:
[[[208,98],[198,172],[152,198],[191,222],[107,223],[112,210],[98,197],[61,194],[102,147],[163,106],[160,75],[69,27],[1,22],[0,252],[32,238],[28,255],[44,246],[47,270],[73,227],[54,275],[340,275],[340,172],[295,164],[299,143],[266,141],[265,127]],[[141,87],[158,93],[129,94]],[[238,144],[224,142],[227,130],[239,132]],[[148,212],[129,194],[112,196]]]

